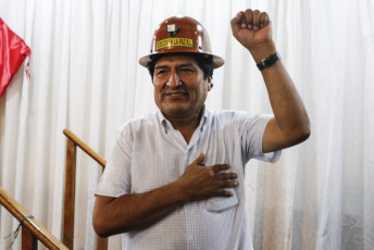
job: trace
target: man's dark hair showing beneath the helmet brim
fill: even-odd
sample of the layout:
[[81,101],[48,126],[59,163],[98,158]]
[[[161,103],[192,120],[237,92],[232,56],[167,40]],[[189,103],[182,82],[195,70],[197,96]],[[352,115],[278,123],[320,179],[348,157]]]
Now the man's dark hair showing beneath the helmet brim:
[[203,53],[164,53],[164,54],[152,54],[151,61],[147,64],[147,68],[149,71],[149,74],[151,75],[152,82],[153,82],[153,73],[154,73],[154,66],[155,63],[164,57],[172,57],[172,55],[190,55],[194,57],[197,64],[201,68],[201,71],[204,74],[204,79],[208,77],[213,76],[213,70],[214,70],[214,63],[213,63],[213,55],[211,54],[203,54]]

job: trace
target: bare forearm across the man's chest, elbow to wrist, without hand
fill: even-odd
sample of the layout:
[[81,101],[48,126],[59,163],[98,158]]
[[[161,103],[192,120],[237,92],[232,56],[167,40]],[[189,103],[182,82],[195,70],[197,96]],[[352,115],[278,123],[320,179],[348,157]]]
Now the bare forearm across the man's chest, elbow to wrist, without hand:
[[184,204],[180,193],[177,184],[172,183],[149,192],[121,196],[104,205],[98,197],[94,227],[104,237],[147,228]]

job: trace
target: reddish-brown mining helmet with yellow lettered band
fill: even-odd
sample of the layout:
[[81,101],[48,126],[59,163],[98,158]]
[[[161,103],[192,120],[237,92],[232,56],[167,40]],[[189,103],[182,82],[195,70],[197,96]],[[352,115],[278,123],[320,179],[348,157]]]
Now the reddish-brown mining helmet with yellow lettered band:
[[150,54],[140,58],[139,63],[147,66],[151,61],[151,55],[166,53],[212,55],[214,68],[225,63],[222,58],[212,54],[205,28],[198,21],[188,16],[172,16],[163,21],[152,37]]

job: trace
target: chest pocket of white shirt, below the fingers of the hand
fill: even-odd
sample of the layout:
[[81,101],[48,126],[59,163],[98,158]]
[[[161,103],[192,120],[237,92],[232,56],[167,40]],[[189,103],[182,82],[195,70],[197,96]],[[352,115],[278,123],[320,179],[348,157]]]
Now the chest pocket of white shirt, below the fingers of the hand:
[[217,197],[211,198],[205,203],[205,210],[212,213],[221,213],[238,205],[238,197],[234,189],[229,189],[233,192],[232,197]]

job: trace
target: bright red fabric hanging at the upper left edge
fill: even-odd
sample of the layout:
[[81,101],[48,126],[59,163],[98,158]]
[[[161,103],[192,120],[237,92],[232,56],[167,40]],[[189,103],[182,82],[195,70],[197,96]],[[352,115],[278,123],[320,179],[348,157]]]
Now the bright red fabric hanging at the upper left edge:
[[[25,58],[30,57],[30,54],[32,50],[25,41],[0,18],[0,97]],[[26,73],[28,74],[28,63]]]

